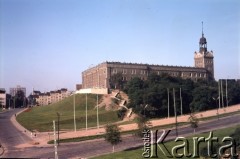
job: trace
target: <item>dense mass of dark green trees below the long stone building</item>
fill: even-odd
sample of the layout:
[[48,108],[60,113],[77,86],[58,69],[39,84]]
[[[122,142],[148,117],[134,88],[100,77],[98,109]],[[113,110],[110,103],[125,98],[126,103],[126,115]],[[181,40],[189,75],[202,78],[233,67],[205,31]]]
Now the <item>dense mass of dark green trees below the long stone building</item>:
[[[147,80],[135,77],[128,81],[124,91],[129,97],[129,108],[137,114],[144,114],[148,117],[166,117],[168,111],[168,89],[169,105],[173,105],[172,89],[175,88],[176,105],[180,106],[180,88],[182,97],[183,113],[206,111],[215,109],[218,98],[218,83],[213,80],[182,79],[171,77],[166,73],[157,75],[151,73]],[[223,88],[225,84],[223,83]],[[224,93],[225,94],[225,93]],[[240,103],[240,83],[235,80],[228,80],[228,101],[229,105]],[[214,100],[214,99],[215,100]],[[224,97],[226,99],[226,97]],[[148,105],[145,110],[143,106]],[[179,107],[178,107],[179,108]],[[177,109],[180,113],[180,109]],[[170,109],[173,114],[173,109]]]

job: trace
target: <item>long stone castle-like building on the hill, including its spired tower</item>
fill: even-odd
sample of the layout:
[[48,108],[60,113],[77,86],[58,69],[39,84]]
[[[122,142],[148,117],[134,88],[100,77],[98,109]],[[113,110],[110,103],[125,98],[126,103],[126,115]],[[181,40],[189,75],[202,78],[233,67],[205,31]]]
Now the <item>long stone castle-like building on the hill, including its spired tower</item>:
[[167,73],[194,81],[214,79],[213,52],[207,50],[207,40],[203,31],[199,40],[199,51],[194,53],[194,62],[194,67],[104,62],[82,72],[82,88],[110,88],[111,78],[117,73],[122,74],[123,81],[129,81],[133,77],[145,80],[151,73]]

